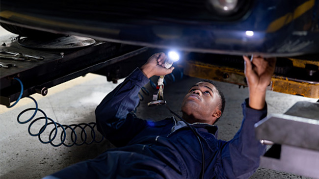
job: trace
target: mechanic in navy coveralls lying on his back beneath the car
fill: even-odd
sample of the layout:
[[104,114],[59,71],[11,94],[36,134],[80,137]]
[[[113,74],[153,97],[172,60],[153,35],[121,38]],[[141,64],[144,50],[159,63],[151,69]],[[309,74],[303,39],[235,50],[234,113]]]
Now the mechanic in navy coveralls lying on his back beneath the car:
[[[217,126],[225,100],[209,80],[192,86],[186,94],[183,118],[198,131],[205,153],[205,179],[247,179],[259,166],[266,146],[255,139],[254,124],[266,117],[266,87],[275,58],[243,56],[249,99],[242,104],[241,128],[230,141],[218,140]],[[135,118],[130,112],[138,104],[138,92],[149,78],[170,74],[163,67],[166,55],[156,53],[147,63],[109,93],[97,107],[98,130],[116,147],[95,159],[65,168],[48,178],[63,179],[198,179],[202,151],[196,135],[174,117],[158,122]]]

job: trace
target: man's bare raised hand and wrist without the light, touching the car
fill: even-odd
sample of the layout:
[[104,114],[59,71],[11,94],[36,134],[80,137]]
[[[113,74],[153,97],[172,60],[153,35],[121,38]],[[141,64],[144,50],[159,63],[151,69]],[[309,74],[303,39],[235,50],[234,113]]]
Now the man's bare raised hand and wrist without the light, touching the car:
[[274,73],[276,58],[253,57],[252,61],[247,56],[245,60],[245,76],[249,88],[249,106],[254,109],[263,109],[265,106],[266,87],[270,84]]

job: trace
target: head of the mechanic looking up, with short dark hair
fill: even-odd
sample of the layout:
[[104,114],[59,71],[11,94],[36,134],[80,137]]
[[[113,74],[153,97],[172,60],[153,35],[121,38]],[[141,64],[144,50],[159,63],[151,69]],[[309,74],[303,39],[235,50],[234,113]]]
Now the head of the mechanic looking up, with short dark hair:
[[223,93],[212,80],[201,80],[193,85],[182,103],[183,118],[189,123],[214,124],[225,107]]

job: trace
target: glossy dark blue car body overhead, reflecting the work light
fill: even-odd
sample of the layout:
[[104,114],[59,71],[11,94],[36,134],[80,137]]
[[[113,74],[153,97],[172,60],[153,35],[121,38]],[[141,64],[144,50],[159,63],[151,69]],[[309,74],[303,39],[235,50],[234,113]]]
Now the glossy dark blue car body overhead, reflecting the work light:
[[184,51],[294,56],[319,51],[319,0],[1,0],[1,23]]

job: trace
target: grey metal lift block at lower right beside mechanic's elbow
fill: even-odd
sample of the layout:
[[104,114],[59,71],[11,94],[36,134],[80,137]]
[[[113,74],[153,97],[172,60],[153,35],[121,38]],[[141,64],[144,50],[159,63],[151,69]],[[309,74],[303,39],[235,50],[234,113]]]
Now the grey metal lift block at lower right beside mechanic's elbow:
[[297,102],[255,124],[257,139],[274,143],[260,166],[319,179],[319,102]]

